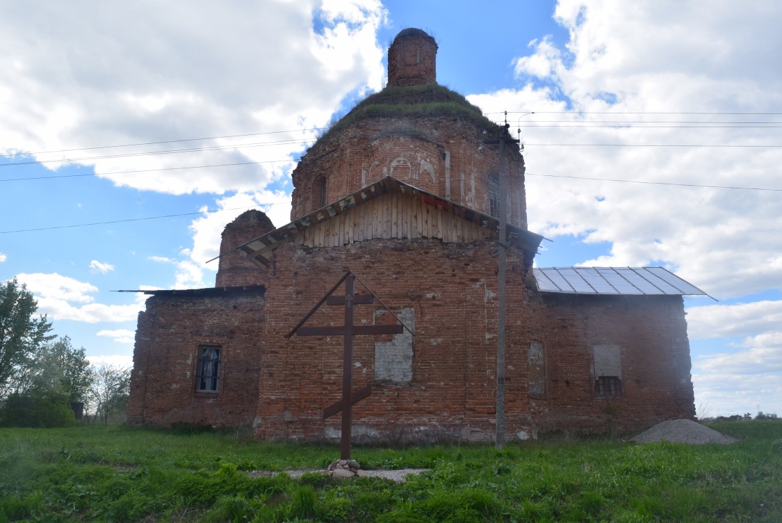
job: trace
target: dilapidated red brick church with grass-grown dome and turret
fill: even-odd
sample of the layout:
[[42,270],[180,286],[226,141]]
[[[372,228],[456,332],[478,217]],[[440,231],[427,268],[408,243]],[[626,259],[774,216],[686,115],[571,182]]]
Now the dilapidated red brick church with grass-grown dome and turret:
[[404,325],[354,338],[353,388],[371,386],[354,438],[491,441],[500,249],[507,439],[694,416],[682,296],[704,293],[659,267],[533,268],[522,153],[436,83],[436,52],[424,31],[396,36],[386,88],[293,171],[291,222],[247,211],[226,225],[215,287],[145,291],[129,423],[339,437],[324,409],[342,397],[344,337],[289,334],[313,310],[308,326],[345,324],[324,298],[350,272],[376,298],[354,307],[356,325]]

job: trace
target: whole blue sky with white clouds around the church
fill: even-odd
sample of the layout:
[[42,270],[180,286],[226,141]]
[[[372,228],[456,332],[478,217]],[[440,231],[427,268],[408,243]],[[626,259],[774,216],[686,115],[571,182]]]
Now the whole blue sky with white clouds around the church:
[[296,161],[418,27],[439,83],[525,146],[536,265],[676,272],[711,297],[684,298],[698,414],[782,414],[780,20],[776,0],[0,0],[0,282],[131,366],[146,296],[115,291],[213,287],[226,223],[289,222]]

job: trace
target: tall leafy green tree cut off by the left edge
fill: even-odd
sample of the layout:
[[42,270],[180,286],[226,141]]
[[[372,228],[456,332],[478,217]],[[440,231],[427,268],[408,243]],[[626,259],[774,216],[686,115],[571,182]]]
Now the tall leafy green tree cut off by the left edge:
[[17,391],[38,352],[54,338],[46,316],[34,318],[38,303],[14,278],[0,286],[0,399]]

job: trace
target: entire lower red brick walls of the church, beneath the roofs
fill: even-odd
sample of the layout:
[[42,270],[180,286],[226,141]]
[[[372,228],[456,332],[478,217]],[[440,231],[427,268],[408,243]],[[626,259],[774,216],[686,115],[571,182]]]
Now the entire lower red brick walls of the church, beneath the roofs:
[[[264,297],[235,290],[150,298],[139,317],[129,420],[221,425],[254,420],[258,438],[338,436],[339,414],[324,421],[321,413],[340,399],[343,338],[285,335],[350,269],[415,333],[413,340],[409,334],[356,337],[354,389],[372,384],[374,390],[353,409],[357,439],[491,441],[495,249],[491,240],[370,240],[327,248],[288,243],[274,252]],[[529,290],[522,267],[511,250],[508,438],[553,430],[622,431],[693,416],[680,297],[539,294]],[[357,290],[366,292],[361,284]],[[357,306],[356,321],[390,318],[375,303]],[[342,324],[343,308],[323,306],[307,326]],[[540,358],[530,359],[533,341],[542,344],[542,368]],[[223,348],[217,394],[194,392],[201,344]],[[619,347],[621,395],[595,392],[592,350],[598,345]]]

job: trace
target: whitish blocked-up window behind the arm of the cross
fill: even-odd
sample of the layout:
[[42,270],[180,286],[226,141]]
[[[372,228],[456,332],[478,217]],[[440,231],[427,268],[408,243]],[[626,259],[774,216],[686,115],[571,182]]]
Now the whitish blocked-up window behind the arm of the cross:
[[[408,329],[415,332],[415,315],[412,308],[394,312]],[[396,323],[393,315],[385,309],[375,311],[375,325]],[[402,334],[388,335],[390,341],[375,341],[375,380],[392,383],[409,383],[413,379],[413,335],[404,330]]]

